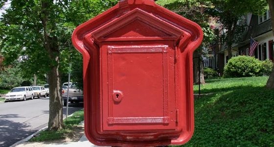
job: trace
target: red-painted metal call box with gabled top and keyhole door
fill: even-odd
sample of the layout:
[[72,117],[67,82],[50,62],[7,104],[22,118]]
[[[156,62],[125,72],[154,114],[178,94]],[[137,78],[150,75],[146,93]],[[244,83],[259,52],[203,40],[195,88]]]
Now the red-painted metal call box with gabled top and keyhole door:
[[85,134],[98,146],[182,145],[194,131],[201,27],[154,0],[120,0],[78,26]]

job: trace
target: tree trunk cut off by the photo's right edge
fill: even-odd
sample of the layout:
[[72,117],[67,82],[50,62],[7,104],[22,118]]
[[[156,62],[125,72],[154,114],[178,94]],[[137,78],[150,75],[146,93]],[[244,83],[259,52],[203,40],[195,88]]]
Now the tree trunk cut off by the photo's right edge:
[[[274,35],[274,0],[267,0],[268,1],[268,5],[269,5],[269,10],[270,10],[270,17],[271,17],[271,21],[272,21],[272,32]],[[266,87],[270,88],[270,89],[274,89],[274,67],[272,69],[272,73],[270,74],[267,83],[266,83]]]

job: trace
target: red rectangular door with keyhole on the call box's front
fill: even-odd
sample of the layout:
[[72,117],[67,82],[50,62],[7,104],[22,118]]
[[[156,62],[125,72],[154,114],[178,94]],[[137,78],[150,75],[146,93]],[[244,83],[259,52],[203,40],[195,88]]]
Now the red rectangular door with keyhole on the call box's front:
[[108,46],[104,52],[103,129],[174,129],[174,49]]

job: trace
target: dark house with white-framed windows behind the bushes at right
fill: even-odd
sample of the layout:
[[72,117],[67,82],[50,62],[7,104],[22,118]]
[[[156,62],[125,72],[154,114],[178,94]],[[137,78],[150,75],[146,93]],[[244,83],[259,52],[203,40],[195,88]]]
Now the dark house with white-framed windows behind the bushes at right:
[[[232,45],[232,56],[249,55],[251,38],[259,44],[254,51],[254,57],[259,60],[270,59],[274,61],[274,35],[272,32],[269,11],[264,15],[248,14],[241,20],[246,24],[242,33],[242,40]],[[220,36],[223,29],[218,29],[216,35]],[[223,73],[224,66],[228,63],[228,50],[226,44],[222,44],[217,39],[216,43],[209,47],[212,55],[204,57],[204,67],[211,67],[219,73]]]

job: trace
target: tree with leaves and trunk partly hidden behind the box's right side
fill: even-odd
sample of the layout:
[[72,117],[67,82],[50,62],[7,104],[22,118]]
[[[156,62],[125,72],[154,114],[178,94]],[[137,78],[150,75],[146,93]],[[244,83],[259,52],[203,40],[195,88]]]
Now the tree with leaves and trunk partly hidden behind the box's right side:
[[[210,28],[210,15],[205,13],[205,9],[212,7],[211,3],[206,0],[158,0],[158,4],[169,10],[182,15],[200,25],[204,31],[204,42],[199,49],[193,53],[193,76],[194,83],[205,83],[203,72],[203,48],[208,46],[215,38],[213,30]],[[200,77],[199,77],[199,58],[200,58]]]

